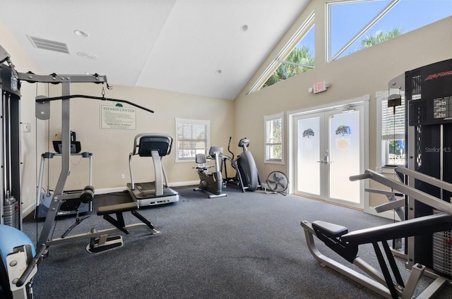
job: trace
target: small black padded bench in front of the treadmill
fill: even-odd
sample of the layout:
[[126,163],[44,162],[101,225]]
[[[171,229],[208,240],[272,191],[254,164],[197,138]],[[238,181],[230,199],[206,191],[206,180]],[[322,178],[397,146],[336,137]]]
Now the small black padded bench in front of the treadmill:
[[[123,233],[129,234],[129,230],[133,228],[138,228],[140,226],[147,226],[150,228],[153,235],[160,233],[160,231],[156,231],[153,224],[145,219],[145,217],[141,216],[136,210],[138,209],[138,204],[136,202],[124,202],[122,204],[117,205],[108,205],[97,208],[97,215],[103,216],[105,220],[107,220],[110,224],[113,224],[119,231]],[[124,215],[123,212],[131,212],[133,216],[140,219],[142,224],[132,224],[126,226],[124,223]],[[112,214],[116,214],[116,219],[112,216]],[[91,233],[96,233],[95,228],[91,229]],[[100,233],[100,232],[97,232]],[[100,236],[93,237],[90,240],[90,243],[86,246],[86,250],[90,253],[102,252],[105,250],[109,250],[112,248],[121,247],[123,245],[122,236],[107,236],[107,233],[101,234]]]

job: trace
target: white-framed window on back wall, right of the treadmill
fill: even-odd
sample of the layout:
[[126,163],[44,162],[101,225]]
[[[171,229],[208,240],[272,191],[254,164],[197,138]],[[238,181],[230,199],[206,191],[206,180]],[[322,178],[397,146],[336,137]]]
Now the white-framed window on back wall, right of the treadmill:
[[210,147],[210,121],[176,118],[176,162],[194,161]]

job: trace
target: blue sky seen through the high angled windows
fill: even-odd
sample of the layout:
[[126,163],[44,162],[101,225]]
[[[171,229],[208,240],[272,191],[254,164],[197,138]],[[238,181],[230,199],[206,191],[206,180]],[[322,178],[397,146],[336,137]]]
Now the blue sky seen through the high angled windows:
[[[366,39],[366,37],[374,36],[380,31],[391,32],[391,30],[397,29],[400,30],[401,34],[404,34],[430,23],[434,23],[437,20],[452,16],[452,0],[399,0],[386,14],[359,36],[355,42],[350,44],[343,53],[338,55],[338,52],[357,36],[371,20],[374,20],[386,6],[391,4],[391,2],[392,0],[351,0],[331,2],[329,4],[330,23],[328,24],[330,32],[329,36],[326,37],[329,39],[328,44],[331,47],[330,51],[328,51],[328,61],[342,58],[359,51],[362,49],[362,41]],[[326,2],[326,4],[328,4],[328,2]],[[312,25],[302,39],[300,39],[296,47],[308,47],[309,58],[314,59],[316,49],[315,25]],[[335,57],[337,55],[338,57]],[[304,61],[300,62],[302,64],[309,64],[304,63]],[[288,67],[287,64],[290,65],[290,63],[286,63],[286,68],[299,68],[299,66],[293,65]],[[284,71],[283,65],[285,65],[285,63],[278,66],[275,73],[280,68]],[[314,66],[314,61],[311,60],[310,65]],[[307,70],[309,70],[309,68],[304,68],[303,72]],[[287,71],[285,72],[287,73]],[[273,75],[275,75],[275,73],[273,73]],[[298,74],[295,71],[291,71],[291,73],[294,73],[292,75]],[[278,74],[275,76],[276,78],[272,79],[273,75],[271,75],[270,78],[267,78],[266,83],[263,83],[263,85],[258,88],[260,89],[273,85],[280,80],[285,80],[285,78],[280,78],[281,76]],[[292,75],[287,75],[287,78],[292,77]],[[258,86],[258,83],[255,85]],[[254,90],[254,87],[252,87],[251,90]]]

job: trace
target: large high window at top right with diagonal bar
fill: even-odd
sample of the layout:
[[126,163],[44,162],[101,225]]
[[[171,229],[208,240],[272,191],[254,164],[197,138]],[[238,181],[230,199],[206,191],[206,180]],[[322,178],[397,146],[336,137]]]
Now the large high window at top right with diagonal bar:
[[328,61],[452,16],[452,1],[344,0],[326,3]]

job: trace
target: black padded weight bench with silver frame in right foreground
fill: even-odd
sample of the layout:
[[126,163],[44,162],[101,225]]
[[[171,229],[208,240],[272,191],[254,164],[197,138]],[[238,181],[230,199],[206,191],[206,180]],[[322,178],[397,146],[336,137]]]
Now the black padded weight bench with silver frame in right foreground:
[[[415,264],[411,269],[408,281],[404,283],[387,240],[451,230],[452,215],[443,212],[351,233],[348,232],[345,226],[325,221],[313,221],[312,224],[308,221],[302,221],[301,225],[304,228],[309,251],[321,264],[335,269],[386,298],[412,298],[412,294],[417,288],[417,283],[424,274],[425,267],[422,264]],[[372,279],[321,254],[316,249],[314,235],[345,260],[355,264],[359,269],[369,274]],[[380,270],[374,269],[374,267],[371,267],[371,265],[357,256],[358,246],[368,243],[374,246]],[[383,247],[387,262],[385,257],[383,257],[379,243]],[[390,269],[394,279],[396,279],[396,283],[393,282]],[[446,282],[447,280],[444,277],[439,276],[434,283],[424,290],[420,298],[429,298],[430,295],[434,295]]]

